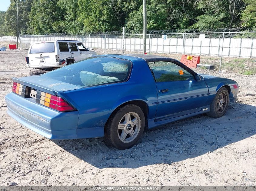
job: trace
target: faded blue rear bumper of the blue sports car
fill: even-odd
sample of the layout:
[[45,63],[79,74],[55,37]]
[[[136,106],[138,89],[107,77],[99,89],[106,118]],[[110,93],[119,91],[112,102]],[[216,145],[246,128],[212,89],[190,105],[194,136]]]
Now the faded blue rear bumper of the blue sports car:
[[49,139],[76,139],[78,111],[58,112],[10,93],[5,96],[7,113],[22,125]]

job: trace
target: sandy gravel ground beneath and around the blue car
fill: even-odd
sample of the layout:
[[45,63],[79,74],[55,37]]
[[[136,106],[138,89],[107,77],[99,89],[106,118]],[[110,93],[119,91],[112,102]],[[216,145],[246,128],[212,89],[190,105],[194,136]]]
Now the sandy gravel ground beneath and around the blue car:
[[103,138],[51,141],[7,115],[11,77],[31,70],[26,54],[0,52],[0,185],[256,185],[255,75],[211,71],[240,86],[238,102],[223,117],[170,123],[119,151]]

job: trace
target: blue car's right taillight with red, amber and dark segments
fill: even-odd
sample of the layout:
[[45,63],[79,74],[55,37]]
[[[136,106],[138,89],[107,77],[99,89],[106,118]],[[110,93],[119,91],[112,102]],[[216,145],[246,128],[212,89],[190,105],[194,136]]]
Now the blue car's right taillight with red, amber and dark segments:
[[65,100],[61,97],[48,94],[42,91],[37,91],[36,93],[36,103],[44,105],[46,107],[52,108],[57,111],[75,111]]

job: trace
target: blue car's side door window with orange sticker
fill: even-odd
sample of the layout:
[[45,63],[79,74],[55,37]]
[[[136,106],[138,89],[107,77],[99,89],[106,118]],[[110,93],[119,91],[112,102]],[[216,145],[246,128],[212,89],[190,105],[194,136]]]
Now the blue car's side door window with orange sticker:
[[193,80],[194,75],[173,62],[148,62],[156,82]]

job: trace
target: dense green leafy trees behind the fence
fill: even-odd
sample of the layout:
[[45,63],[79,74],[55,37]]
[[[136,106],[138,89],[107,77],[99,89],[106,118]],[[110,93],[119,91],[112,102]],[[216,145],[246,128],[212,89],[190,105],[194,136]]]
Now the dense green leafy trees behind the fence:
[[[142,0],[11,0],[0,35],[143,29]],[[147,29],[256,27],[255,0],[147,0]]]

